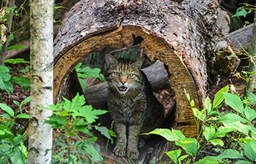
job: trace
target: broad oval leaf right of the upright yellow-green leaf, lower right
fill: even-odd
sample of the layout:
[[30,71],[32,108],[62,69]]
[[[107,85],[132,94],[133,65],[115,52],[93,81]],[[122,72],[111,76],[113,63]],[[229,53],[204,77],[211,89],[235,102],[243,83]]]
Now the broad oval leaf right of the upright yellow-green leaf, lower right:
[[223,93],[225,96],[225,104],[230,106],[232,109],[244,115],[244,104],[238,95],[233,95],[231,93]]

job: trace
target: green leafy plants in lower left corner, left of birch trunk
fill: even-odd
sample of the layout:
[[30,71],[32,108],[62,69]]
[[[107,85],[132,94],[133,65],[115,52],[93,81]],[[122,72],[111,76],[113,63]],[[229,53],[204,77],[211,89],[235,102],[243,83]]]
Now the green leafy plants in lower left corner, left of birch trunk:
[[27,135],[21,135],[22,129],[18,130],[17,136],[12,132],[12,126],[15,125],[16,118],[29,118],[28,114],[21,112],[21,106],[30,101],[30,96],[26,98],[20,104],[15,101],[15,104],[19,106],[20,114],[15,112],[7,105],[0,104],[0,108],[7,112],[1,114],[0,120],[0,163],[6,162],[8,159],[12,163],[26,163],[28,159],[28,152],[23,143],[23,138]]

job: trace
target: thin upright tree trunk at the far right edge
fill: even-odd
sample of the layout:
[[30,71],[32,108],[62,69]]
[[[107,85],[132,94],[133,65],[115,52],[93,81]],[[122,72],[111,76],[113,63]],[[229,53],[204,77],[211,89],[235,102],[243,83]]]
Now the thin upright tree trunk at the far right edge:
[[[256,19],[256,12],[255,12],[255,19]],[[249,72],[254,72],[256,71],[256,20],[254,20],[254,26],[252,28],[252,47],[249,50],[249,54],[252,55],[252,59],[249,60]],[[247,82],[246,85],[246,93],[252,93],[254,88],[255,88],[255,79],[256,76],[255,74],[251,75],[251,79],[249,82]]]

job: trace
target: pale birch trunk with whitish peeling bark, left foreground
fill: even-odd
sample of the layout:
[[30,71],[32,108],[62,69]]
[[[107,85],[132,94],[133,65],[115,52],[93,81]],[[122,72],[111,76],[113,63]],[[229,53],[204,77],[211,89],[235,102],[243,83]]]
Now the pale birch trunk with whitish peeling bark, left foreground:
[[52,114],[39,106],[53,104],[53,0],[31,0],[31,109],[28,163],[50,163],[52,129],[44,121]]

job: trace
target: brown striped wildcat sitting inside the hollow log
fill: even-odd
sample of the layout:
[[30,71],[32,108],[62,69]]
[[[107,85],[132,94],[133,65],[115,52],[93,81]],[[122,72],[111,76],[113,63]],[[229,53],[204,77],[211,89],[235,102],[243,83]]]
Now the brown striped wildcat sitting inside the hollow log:
[[155,128],[160,128],[164,120],[164,108],[154,97],[146,75],[141,71],[145,58],[134,63],[116,60],[113,55],[105,55],[108,70],[108,110],[116,132],[116,147],[113,153],[132,159],[139,157],[138,147],[144,146],[139,136]]

